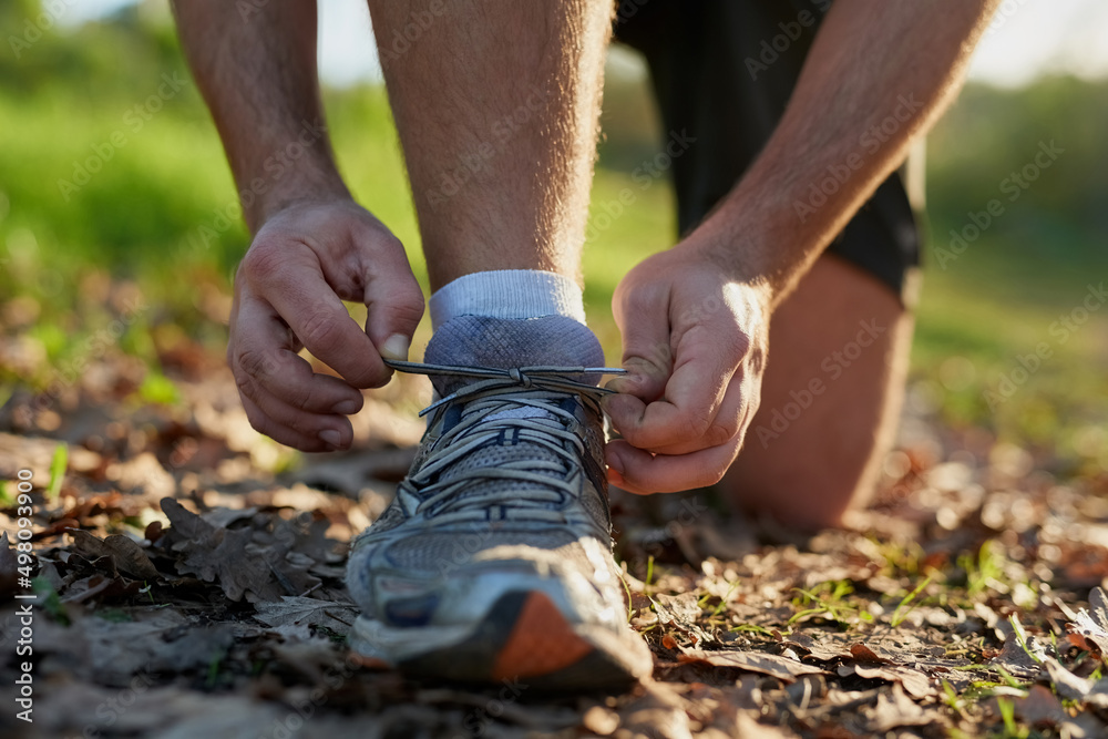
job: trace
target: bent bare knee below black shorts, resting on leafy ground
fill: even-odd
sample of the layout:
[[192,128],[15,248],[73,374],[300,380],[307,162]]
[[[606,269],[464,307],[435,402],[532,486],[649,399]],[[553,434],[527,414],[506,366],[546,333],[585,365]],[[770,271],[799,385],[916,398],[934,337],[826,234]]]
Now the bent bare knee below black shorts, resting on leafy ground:
[[[835,525],[864,504],[893,442],[912,327],[886,285],[823,256],[773,315],[761,407],[725,494],[803,528]],[[789,420],[814,380],[822,392]]]

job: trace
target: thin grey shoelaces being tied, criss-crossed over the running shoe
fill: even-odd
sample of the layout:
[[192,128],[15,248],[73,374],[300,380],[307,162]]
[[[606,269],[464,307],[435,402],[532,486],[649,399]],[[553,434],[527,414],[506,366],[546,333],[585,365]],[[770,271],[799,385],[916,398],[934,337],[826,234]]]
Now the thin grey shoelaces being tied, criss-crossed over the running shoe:
[[[572,412],[561,408],[566,394],[577,396],[591,410],[601,413],[599,398],[614,392],[568,376],[625,372],[612,367],[495,369],[392,360],[386,360],[386,365],[400,372],[475,380],[420,411],[420,417],[423,417],[444,411],[454,403],[465,406],[461,420],[439,438],[437,450],[423,461],[419,472],[401,483],[421,499],[417,512],[433,514],[438,523],[484,520],[492,506],[499,507],[505,519],[563,521],[564,516],[557,507],[576,492],[576,486],[566,480],[567,472],[579,465],[588,452],[577,434],[566,430],[564,423],[551,423],[551,417],[575,420]],[[520,409],[529,408],[540,410],[544,418],[512,415],[512,412],[519,413]],[[435,480],[439,472],[495,441],[505,431],[516,434],[521,442],[550,450],[561,458],[562,463],[541,460],[507,462],[466,470],[448,481]],[[482,493],[480,490],[482,483],[488,486],[489,482],[507,480],[527,484],[521,485],[511,496],[502,491]]]

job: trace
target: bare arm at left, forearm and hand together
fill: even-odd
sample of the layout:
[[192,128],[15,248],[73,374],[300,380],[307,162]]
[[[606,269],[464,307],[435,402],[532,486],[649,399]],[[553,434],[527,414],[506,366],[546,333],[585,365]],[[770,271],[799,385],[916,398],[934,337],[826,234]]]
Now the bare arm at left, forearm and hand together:
[[[347,449],[359,390],[389,381],[382,356],[407,358],[423,295],[400,242],[351,199],[326,134],[302,145],[305,129],[324,122],[316,3],[249,14],[237,4],[174,3],[235,183],[252,195],[243,211],[255,236],[235,276],[227,361],[255,429],[302,451]],[[342,300],[368,306],[365,330]],[[341,379],[314,373],[301,347]]]

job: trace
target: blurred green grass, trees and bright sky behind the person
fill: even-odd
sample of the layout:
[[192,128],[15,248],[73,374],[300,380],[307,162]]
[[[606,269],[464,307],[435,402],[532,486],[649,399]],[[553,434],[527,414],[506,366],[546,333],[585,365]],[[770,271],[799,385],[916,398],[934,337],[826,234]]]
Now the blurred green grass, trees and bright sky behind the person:
[[[360,0],[321,0],[320,62],[340,167],[425,273]],[[249,244],[167,0],[0,4],[0,406],[4,430],[50,432],[65,388],[127,362],[126,408],[184,402],[216,372],[230,276]],[[591,324],[618,362],[612,290],[675,238],[642,62],[614,49],[585,253]],[[999,440],[1051,471],[1108,473],[1108,7],[1006,0],[971,82],[927,141],[925,277],[909,412]],[[1051,157],[1036,155],[1051,150]],[[1049,162],[1043,166],[1044,162]],[[1019,178],[1013,177],[1018,173]],[[1003,204],[984,218],[988,203]],[[601,226],[601,227],[597,227]],[[958,238],[952,236],[957,234]],[[357,314],[358,308],[352,310]],[[417,351],[428,327],[417,337]],[[40,418],[16,401],[53,393]],[[50,413],[53,413],[51,415]],[[987,453],[987,451],[985,452]]]

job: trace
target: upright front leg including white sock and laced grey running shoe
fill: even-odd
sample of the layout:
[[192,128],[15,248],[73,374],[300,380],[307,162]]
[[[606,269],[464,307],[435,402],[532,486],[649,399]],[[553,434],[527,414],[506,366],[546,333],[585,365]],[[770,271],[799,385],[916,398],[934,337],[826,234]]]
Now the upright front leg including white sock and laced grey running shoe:
[[[438,678],[626,685],[653,660],[612,556],[579,369],[604,352],[575,281],[611,6],[370,4],[435,290],[427,365],[400,369],[432,374],[441,401],[351,551],[351,644]],[[424,30],[390,57],[412,6]]]

